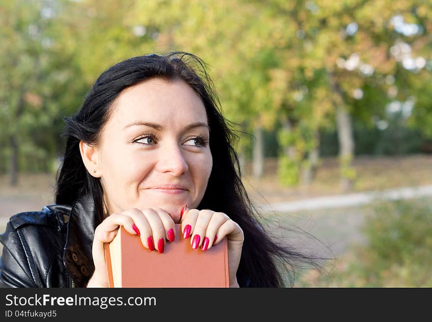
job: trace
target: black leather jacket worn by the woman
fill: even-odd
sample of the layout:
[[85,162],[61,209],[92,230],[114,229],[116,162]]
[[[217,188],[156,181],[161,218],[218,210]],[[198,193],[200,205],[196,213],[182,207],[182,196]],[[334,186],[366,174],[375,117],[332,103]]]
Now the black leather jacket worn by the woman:
[[1,287],[85,287],[94,272],[92,198],[12,216],[0,235]]

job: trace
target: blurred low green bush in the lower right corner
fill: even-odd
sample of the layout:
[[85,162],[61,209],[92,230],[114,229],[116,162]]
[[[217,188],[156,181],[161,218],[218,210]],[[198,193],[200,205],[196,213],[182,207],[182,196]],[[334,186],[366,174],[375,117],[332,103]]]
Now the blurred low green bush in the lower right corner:
[[377,204],[363,232],[366,245],[354,248],[310,286],[432,287],[430,200]]

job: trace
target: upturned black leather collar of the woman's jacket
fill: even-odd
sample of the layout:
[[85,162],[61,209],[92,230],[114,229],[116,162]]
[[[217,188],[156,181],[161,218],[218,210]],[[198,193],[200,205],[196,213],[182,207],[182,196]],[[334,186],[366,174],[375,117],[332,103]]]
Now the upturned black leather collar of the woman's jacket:
[[92,244],[97,223],[91,195],[79,197],[72,206],[67,225],[63,263],[76,287],[85,287],[94,272]]

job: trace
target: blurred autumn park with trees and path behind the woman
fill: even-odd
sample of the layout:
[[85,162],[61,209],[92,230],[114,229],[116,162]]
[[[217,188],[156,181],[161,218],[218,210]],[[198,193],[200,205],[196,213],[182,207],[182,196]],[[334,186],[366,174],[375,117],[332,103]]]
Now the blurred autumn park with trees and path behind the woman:
[[297,227],[275,234],[329,258],[295,286],[432,286],[430,0],[0,0],[0,44],[1,231],[54,203],[62,118],[99,74],[182,50],[236,124],[250,197]]

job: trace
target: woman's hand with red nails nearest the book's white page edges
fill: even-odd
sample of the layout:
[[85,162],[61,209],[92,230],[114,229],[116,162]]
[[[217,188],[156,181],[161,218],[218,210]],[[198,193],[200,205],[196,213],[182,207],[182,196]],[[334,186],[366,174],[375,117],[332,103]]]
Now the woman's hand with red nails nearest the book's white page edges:
[[95,271],[87,287],[108,287],[104,243],[114,239],[120,225],[129,233],[139,235],[145,248],[157,249],[160,253],[163,253],[165,239],[172,242],[175,238],[175,223],[172,217],[160,208],[131,208],[119,214],[111,214],[95,230],[92,246]]

